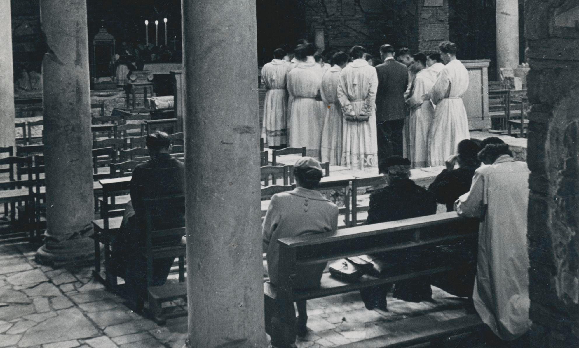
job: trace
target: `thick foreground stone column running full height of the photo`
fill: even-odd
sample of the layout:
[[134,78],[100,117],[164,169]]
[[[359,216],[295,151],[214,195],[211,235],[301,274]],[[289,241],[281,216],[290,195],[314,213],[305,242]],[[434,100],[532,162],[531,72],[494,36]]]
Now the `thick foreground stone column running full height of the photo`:
[[188,346],[262,348],[255,1],[183,0],[182,18]]

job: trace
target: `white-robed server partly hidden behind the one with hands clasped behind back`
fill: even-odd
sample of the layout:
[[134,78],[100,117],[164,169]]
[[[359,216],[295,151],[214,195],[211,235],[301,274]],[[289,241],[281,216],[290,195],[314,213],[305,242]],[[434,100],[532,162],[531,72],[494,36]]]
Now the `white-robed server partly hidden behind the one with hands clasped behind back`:
[[322,76],[321,97],[324,101],[325,118],[322,129],[322,162],[339,166],[342,161],[342,107],[338,100],[338,77],[348,64],[348,55],[338,52],[332,57],[333,67]]

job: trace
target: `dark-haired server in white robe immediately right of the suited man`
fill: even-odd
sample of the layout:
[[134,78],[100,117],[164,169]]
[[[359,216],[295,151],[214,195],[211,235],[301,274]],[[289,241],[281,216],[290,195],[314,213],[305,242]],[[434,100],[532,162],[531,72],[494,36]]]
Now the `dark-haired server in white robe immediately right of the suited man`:
[[410,108],[408,129],[408,159],[413,168],[423,168],[428,163],[428,131],[434,118],[434,107],[429,98],[424,99],[432,89],[434,82],[430,78],[430,72],[426,69],[426,56],[416,53],[412,56],[414,61],[411,65],[416,76],[412,82],[406,104]]

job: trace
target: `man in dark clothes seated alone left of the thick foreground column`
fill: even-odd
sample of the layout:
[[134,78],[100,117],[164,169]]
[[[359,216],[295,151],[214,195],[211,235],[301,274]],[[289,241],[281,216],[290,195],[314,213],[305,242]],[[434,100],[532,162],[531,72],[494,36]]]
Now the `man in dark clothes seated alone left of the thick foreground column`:
[[[112,262],[107,268],[115,268],[119,276],[132,288],[135,306],[142,306],[146,296],[146,260],[141,252],[144,247],[145,216],[143,199],[183,195],[185,192],[185,166],[169,155],[170,141],[166,133],[155,131],[146,137],[149,159],[139,164],[131,178],[131,200],[127,203],[123,222],[118,235],[112,243]],[[159,207],[153,215],[153,228],[168,229],[185,226],[185,207]],[[181,238],[164,241],[177,244]],[[162,285],[174,261],[173,258],[161,258],[153,261],[153,285]],[[115,269],[112,269],[114,272]]]

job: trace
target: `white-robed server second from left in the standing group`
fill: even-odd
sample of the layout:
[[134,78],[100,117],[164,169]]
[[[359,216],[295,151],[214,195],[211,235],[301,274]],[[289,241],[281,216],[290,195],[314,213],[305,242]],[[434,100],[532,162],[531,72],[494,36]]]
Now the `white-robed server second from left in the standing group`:
[[[324,115],[318,100],[321,88],[321,67],[314,60],[316,47],[308,44],[296,49],[299,60],[288,74],[288,91],[294,97],[291,104],[288,129],[290,146],[306,146],[307,156],[320,159],[320,142]],[[316,100],[318,99],[318,100]]]

